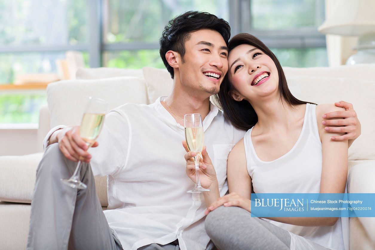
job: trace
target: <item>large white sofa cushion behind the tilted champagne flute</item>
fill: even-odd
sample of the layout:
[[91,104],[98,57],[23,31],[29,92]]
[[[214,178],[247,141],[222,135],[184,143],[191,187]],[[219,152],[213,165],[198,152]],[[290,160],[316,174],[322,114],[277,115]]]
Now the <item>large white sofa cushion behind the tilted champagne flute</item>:
[[60,124],[79,125],[90,96],[107,100],[109,110],[124,103],[147,103],[145,81],[139,77],[53,82],[47,87],[51,127]]

